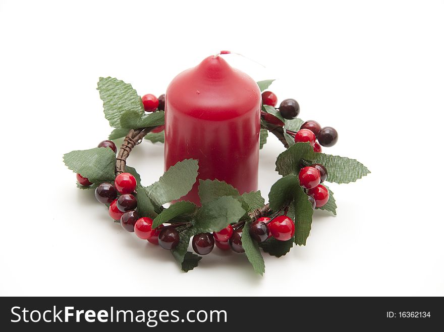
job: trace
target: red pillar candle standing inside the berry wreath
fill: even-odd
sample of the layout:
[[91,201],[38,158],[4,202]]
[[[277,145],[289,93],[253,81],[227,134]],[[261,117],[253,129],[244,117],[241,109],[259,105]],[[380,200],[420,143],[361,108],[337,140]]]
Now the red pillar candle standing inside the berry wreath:
[[260,90],[247,74],[210,56],[177,75],[165,94],[165,170],[199,160],[199,176],[181,200],[199,204],[199,179],[257,190]]

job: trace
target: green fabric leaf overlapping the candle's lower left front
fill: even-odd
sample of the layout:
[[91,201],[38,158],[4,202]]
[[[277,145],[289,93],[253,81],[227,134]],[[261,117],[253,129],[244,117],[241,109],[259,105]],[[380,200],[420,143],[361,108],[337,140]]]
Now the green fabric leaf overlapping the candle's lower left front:
[[198,161],[185,159],[171,166],[157,182],[146,188],[148,197],[157,206],[180,199],[196,182]]

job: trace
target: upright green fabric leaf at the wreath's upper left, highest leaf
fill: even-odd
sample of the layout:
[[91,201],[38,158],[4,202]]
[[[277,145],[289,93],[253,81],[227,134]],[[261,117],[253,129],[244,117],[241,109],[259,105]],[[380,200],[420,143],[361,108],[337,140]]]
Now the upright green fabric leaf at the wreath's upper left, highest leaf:
[[114,128],[132,128],[126,126],[141,118],[145,111],[142,100],[131,84],[112,77],[100,77],[97,83],[103,112],[109,124]]

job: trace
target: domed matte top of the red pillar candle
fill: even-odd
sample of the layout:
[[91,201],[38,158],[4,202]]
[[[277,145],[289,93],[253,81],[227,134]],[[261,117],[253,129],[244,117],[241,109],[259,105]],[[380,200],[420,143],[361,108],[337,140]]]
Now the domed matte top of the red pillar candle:
[[167,104],[178,111],[213,121],[242,116],[261,98],[250,76],[214,56],[177,75],[166,96]]

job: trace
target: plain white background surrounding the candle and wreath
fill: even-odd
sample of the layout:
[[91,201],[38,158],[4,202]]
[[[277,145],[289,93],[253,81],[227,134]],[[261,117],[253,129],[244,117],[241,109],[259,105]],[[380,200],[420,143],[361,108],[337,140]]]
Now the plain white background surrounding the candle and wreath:
[[[442,1],[0,2],[0,295],[444,295]],[[168,251],[113,223],[76,188],[63,153],[110,132],[96,82],[114,76],[163,93],[219,50],[280,101],[339,131],[324,152],[372,173],[331,185],[338,216],[317,211],[306,247],[254,274],[215,249],[188,273]],[[275,157],[260,153],[266,198]],[[143,184],[161,145],[129,159]],[[169,285],[172,286],[169,286]]]

